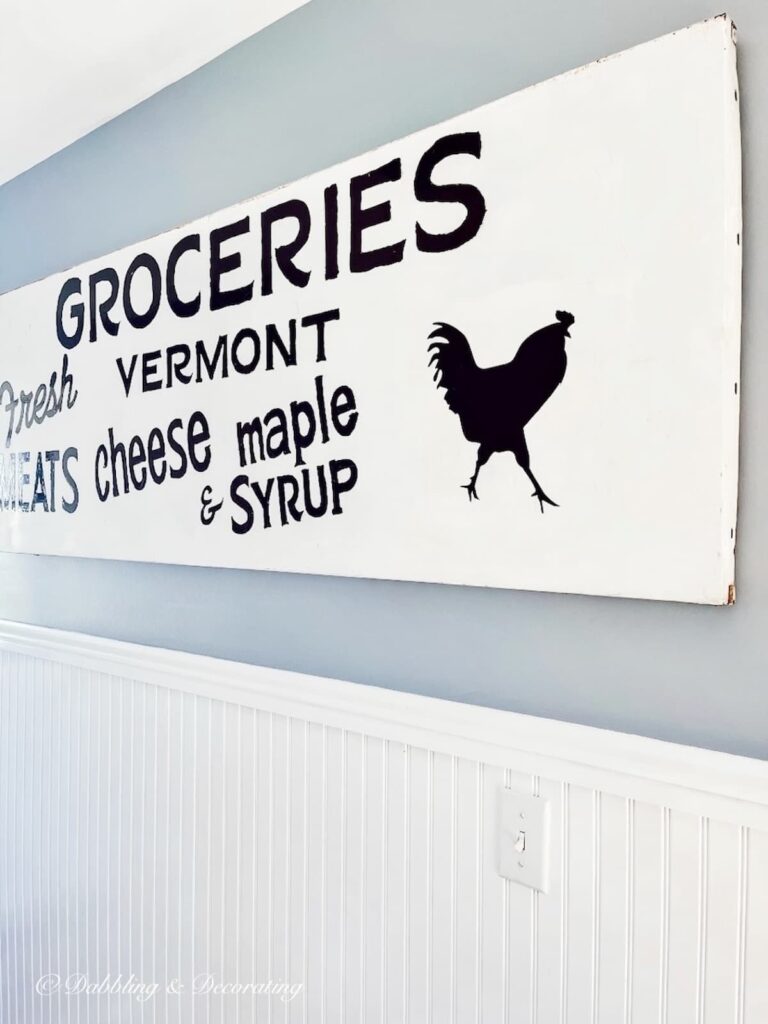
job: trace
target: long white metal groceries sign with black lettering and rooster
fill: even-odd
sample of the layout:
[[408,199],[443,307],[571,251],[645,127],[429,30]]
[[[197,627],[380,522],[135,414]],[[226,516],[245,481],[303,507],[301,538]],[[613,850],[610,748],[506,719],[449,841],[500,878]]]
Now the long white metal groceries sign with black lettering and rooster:
[[0,298],[0,547],[725,603],[716,18]]

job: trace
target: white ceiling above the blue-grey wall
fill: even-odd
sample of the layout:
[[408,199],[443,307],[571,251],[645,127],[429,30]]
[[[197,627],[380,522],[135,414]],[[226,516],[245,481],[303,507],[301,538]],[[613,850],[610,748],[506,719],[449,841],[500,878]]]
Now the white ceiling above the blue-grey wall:
[[0,0],[0,183],[306,0]]

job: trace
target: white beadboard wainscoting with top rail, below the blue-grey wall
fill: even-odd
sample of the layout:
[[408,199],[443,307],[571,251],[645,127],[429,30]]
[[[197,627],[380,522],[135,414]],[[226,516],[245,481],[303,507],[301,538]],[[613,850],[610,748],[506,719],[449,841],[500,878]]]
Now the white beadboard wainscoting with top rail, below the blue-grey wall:
[[765,762],[10,624],[0,680],[3,1024],[768,1022]]

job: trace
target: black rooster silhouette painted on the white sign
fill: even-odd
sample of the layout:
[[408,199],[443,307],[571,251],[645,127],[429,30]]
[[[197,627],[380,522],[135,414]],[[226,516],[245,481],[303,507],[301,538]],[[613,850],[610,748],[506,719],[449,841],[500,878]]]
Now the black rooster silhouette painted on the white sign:
[[445,389],[445,401],[458,414],[464,436],[480,445],[472,478],[463,484],[470,501],[477,498],[480,467],[494,452],[513,452],[534,484],[531,497],[539,500],[542,512],[545,503],[557,507],[534,476],[524,432],[565,376],[565,339],[574,317],[561,309],[555,315],[557,323],[535,331],[512,361],[499,367],[478,367],[469,342],[451,324],[435,324],[429,336],[443,339],[429,346],[437,387]]

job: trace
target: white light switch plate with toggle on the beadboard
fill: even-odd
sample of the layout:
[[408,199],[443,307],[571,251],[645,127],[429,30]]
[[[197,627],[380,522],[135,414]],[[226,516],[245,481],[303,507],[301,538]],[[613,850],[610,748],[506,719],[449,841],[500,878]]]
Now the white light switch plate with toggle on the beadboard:
[[513,790],[500,790],[497,823],[499,874],[546,893],[549,847],[549,801]]

